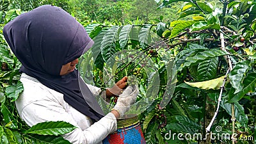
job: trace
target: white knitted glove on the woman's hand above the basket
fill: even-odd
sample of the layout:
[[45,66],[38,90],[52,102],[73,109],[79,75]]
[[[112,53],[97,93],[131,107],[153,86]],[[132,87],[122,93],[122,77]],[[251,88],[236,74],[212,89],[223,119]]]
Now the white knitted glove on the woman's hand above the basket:
[[113,109],[118,111],[120,118],[130,109],[131,105],[136,102],[137,95],[139,94],[138,87],[136,85],[128,86],[124,92],[119,95],[116,105]]

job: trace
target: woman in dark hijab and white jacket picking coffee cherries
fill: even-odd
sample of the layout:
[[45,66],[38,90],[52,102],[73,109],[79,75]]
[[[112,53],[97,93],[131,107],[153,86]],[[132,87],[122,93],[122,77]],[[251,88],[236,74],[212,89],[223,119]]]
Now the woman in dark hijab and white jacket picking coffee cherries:
[[118,81],[106,91],[107,97],[125,90],[113,110],[104,115],[95,100],[100,88],[81,83],[76,70],[78,58],[93,42],[74,17],[56,6],[40,6],[6,24],[3,34],[22,63],[24,92],[15,104],[26,124],[69,122],[77,127],[63,135],[70,143],[101,143],[116,131],[116,118],[135,102],[138,88],[125,88],[127,77]]

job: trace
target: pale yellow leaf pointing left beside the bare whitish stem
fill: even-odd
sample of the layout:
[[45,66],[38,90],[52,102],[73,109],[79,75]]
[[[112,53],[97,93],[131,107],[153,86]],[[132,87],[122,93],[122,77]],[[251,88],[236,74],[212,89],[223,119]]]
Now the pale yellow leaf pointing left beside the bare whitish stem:
[[217,79],[211,79],[209,81],[201,81],[196,83],[189,83],[185,81],[185,83],[203,90],[218,90],[220,86],[223,84],[224,77],[225,76],[219,77]]

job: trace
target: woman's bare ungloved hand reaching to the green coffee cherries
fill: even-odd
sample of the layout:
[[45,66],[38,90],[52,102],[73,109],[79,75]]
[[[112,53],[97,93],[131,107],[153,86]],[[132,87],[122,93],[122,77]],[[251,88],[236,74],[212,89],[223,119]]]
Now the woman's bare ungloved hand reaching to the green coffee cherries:
[[120,81],[118,81],[112,88],[107,88],[106,96],[107,97],[118,97],[121,94],[121,91],[127,87],[127,79],[128,77],[123,77]]

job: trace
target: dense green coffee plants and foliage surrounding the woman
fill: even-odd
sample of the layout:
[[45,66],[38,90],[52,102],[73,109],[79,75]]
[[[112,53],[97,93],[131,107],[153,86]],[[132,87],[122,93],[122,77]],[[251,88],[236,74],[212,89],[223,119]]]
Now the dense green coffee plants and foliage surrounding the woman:
[[[1,29],[41,4],[72,13],[95,41],[77,67],[87,83],[138,80],[147,143],[256,143],[256,1],[1,1]],[[0,143],[68,143],[59,135],[72,125],[20,120],[20,63],[0,42]]]

